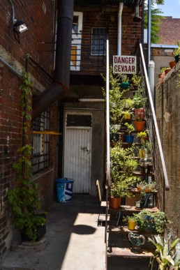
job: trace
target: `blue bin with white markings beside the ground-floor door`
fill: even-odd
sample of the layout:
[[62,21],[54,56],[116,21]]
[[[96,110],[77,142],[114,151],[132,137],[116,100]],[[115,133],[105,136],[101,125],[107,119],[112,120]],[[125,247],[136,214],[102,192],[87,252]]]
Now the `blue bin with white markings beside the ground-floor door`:
[[73,179],[57,179],[57,201],[71,202],[73,194]]

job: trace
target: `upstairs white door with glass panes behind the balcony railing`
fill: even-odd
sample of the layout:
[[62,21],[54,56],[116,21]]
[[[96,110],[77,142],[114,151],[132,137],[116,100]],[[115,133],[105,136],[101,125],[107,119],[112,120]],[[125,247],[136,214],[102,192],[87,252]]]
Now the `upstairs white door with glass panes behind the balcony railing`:
[[81,40],[82,40],[82,12],[73,13],[70,70],[80,70]]

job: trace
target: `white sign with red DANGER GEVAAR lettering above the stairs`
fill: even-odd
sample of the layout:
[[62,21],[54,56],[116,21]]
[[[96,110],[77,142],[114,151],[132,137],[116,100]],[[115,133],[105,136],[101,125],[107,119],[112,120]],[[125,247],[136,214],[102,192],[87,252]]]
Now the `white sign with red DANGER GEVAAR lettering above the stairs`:
[[113,55],[113,73],[136,73],[136,57],[127,55]]

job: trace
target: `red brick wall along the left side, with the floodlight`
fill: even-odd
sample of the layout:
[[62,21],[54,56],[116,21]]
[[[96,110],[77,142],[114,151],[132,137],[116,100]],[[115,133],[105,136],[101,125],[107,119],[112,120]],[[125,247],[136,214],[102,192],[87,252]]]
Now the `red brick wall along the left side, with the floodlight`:
[[[17,0],[13,1],[15,18],[25,22],[28,31],[20,34],[20,44],[15,40],[9,26],[12,19],[12,6],[8,0],[0,1],[0,57],[8,61],[22,73],[25,69],[25,55],[30,54],[48,73],[52,72],[54,55],[54,1],[51,0]],[[43,3],[46,12],[43,10]],[[43,44],[48,42],[50,44]],[[2,51],[6,53],[2,53]],[[6,54],[6,55],[5,55]],[[15,62],[17,61],[17,62]],[[44,88],[51,84],[50,77],[43,70],[29,62],[29,72]],[[17,149],[22,146],[22,114],[20,103],[21,80],[0,61],[0,259],[10,247],[10,211],[6,197],[9,186],[15,186],[15,172],[12,168],[17,159]],[[34,89],[38,91],[39,89]],[[58,106],[51,106],[50,129],[58,130]],[[54,180],[57,178],[59,136],[50,135],[50,170],[46,174],[38,174],[36,181],[40,186],[40,200],[47,208],[54,199]]]

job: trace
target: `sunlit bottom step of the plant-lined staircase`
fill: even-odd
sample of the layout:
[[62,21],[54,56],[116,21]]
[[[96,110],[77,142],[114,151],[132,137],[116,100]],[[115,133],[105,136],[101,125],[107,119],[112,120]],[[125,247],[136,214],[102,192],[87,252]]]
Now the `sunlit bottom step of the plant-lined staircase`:
[[142,248],[142,253],[133,253],[131,248],[109,248],[107,250],[107,257],[118,256],[118,257],[130,257],[130,258],[141,258],[141,257],[152,257],[153,250]]

